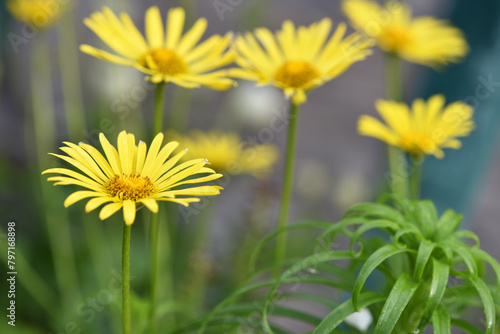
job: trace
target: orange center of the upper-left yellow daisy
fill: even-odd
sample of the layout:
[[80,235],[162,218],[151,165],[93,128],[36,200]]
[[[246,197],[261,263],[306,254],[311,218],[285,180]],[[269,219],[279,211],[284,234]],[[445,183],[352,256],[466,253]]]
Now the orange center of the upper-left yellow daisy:
[[184,61],[174,51],[167,49],[154,49],[142,61],[149,69],[157,70],[164,75],[174,76],[187,72]]

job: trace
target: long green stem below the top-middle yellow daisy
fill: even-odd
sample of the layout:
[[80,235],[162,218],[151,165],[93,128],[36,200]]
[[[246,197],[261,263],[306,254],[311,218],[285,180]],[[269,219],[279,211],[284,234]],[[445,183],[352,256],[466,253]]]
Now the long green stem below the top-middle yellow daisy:
[[[281,194],[281,210],[278,221],[278,228],[281,229],[285,227],[288,223],[288,213],[290,209],[290,201],[292,199],[292,189],[293,189],[293,166],[295,162],[295,143],[297,134],[297,123],[298,123],[299,107],[298,105],[292,103],[290,109],[290,123],[288,124],[288,140],[286,148],[286,161],[285,161],[285,175],[283,181],[283,191]],[[286,233],[281,233],[278,235],[276,240],[276,253],[274,258],[275,265],[275,275],[279,270],[279,265],[283,258],[285,257],[286,251]]]

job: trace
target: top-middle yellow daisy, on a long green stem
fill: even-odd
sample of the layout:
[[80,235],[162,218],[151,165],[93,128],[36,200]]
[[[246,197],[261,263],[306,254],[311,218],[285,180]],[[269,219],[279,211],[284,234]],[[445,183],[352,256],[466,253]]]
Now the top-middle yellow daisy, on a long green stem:
[[[285,21],[273,35],[265,28],[236,39],[237,64],[234,77],[259,85],[283,89],[294,104],[306,102],[306,92],[322,86],[371,54],[371,41],[354,33],[343,39],[346,26],[340,24],[331,38],[332,21],[323,19],[309,27],[295,28]],[[259,44],[260,42],[260,44]],[[262,46],[263,47],[262,47]]]

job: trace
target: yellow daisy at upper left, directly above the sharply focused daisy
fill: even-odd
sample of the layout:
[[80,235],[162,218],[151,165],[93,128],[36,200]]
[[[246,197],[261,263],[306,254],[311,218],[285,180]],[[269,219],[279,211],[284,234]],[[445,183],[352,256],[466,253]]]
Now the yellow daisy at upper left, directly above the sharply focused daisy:
[[170,9],[165,29],[158,7],[150,7],[145,17],[145,39],[128,14],[117,17],[105,7],[84,23],[120,56],[89,45],[82,45],[80,49],[106,61],[133,66],[154,83],[172,82],[186,88],[201,85],[219,90],[230,88],[234,81],[226,77],[226,71],[219,69],[234,60],[234,54],[227,51],[231,33],[214,35],[198,44],[207,28],[207,20],[198,19],[183,35],[185,15],[182,8]]

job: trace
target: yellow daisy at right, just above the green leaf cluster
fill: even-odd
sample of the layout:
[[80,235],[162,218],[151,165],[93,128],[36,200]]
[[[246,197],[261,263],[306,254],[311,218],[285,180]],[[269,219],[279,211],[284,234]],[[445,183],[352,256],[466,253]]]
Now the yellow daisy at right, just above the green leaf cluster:
[[398,146],[414,156],[432,154],[442,159],[442,148],[459,149],[462,144],[457,138],[468,136],[474,129],[471,106],[464,102],[444,105],[443,95],[434,95],[427,102],[417,99],[411,110],[404,103],[378,100],[375,107],[386,124],[363,115],[358,132]]

